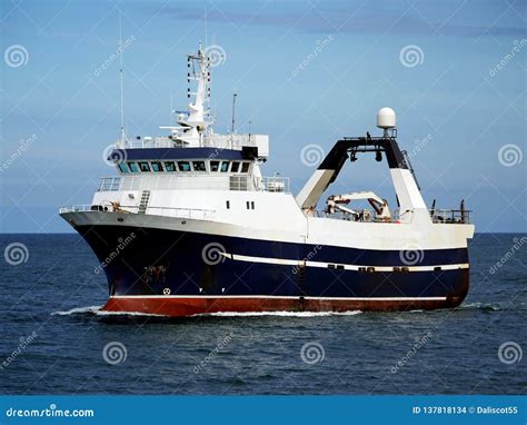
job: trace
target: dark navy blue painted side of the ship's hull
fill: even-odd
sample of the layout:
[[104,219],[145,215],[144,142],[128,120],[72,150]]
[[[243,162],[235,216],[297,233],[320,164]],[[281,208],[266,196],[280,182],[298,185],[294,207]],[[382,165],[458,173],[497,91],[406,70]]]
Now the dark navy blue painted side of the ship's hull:
[[[397,308],[419,307],[419,299],[444,297],[437,307],[459,305],[468,291],[468,268],[427,271],[358,271],[336,267],[240,261],[203,257],[203,248],[219,244],[229,254],[250,257],[331,264],[405,267],[399,251],[348,249],[332,246],[182,233],[122,226],[78,227],[105,271],[112,297],[318,297],[364,298],[362,309],[377,309],[376,300],[411,298]],[[133,237],[131,237],[132,235]],[[117,255],[116,255],[117,251]],[[315,254],[314,254],[315,253]],[[467,249],[427,250],[419,266],[468,263]],[[427,306],[429,303],[427,303]],[[382,307],[381,309],[387,309]],[[390,309],[390,308],[388,308]]]

